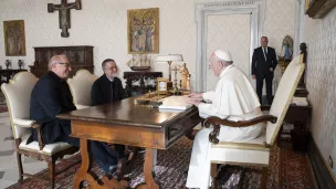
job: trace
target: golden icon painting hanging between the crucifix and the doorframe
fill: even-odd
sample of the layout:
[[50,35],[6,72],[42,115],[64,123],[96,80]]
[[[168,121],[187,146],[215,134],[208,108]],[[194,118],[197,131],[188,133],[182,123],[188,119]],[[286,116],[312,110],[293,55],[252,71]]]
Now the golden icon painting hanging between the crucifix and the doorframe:
[[127,10],[128,53],[159,53],[159,8]]

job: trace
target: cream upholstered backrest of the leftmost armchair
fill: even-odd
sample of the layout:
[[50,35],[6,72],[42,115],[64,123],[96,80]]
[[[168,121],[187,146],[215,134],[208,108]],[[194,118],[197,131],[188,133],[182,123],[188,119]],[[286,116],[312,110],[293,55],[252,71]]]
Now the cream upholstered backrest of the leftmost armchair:
[[13,119],[30,119],[30,98],[38,80],[30,72],[19,72],[8,84],[3,83],[1,85],[14,138],[21,138],[23,135],[31,133],[30,128],[15,126]]

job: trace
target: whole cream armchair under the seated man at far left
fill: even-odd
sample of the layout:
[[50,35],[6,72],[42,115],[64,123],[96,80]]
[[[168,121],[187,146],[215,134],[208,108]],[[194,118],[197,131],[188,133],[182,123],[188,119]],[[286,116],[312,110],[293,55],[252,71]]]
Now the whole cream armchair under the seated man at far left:
[[[64,155],[74,154],[78,149],[67,143],[54,143],[49,145],[43,143],[41,137],[41,125],[35,120],[29,119],[31,92],[38,78],[32,73],[20,72],[10,81],[9,84],[2,84],[1,91],[6,97],[10,115],[10,124],[13,137],[15,138],[19,182],[22,182],[23,176],[25,176],[46,182],[49,181],[50,188],[54,188],[55,161],[59,158],[63,158]],[[31,128],[38,130],[39,141],[32,141],[27,145],[27,140],[31,135]],[[24,174],[21,155],[31,156],[34,159],[46,161],[49,166],[49,180],[38,178],[30,174]]]

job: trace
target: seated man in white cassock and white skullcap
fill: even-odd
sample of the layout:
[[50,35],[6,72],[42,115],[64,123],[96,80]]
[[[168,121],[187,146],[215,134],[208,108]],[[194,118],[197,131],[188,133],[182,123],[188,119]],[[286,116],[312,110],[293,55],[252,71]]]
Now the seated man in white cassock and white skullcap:
[[[198,106],[201,117],[217,116],[229,120],[249,120],[262,115],[258,95],[243,72],[233,65],[229,51],[217,50],[210,56],[210,67],[220,76],[216,91],[191,94],[189,103]],[[202,103],[202,99],[209,103]],[[228,127],[222,125],[217,137],[220,141],[245,141],[256,138],[263,124],[250,127]],[[187,187],[208,189],[210,186],[209,134],[212,128],[197,133],[192,146]]]

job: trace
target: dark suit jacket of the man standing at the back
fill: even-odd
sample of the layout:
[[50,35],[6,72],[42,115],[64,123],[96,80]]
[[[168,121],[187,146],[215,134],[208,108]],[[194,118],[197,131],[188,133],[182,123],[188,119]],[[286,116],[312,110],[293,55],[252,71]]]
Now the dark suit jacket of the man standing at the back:
[[[252,56],[252,75],[273,74],[277,65],[275,50],[267,46],[267,59],[265,61],[262,48],[256,48]],[[270,69],[273,67],[273,72]]]

